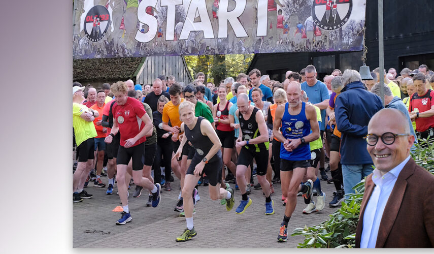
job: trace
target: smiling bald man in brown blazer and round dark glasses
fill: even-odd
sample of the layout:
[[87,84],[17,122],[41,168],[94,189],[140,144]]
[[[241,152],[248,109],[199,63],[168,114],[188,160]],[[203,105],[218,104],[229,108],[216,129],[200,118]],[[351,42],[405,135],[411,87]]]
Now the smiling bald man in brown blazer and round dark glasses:
[[396,109],[369,122],[366,147],[376,169],[366,177],[356,247],[434,246],[434,176],[410,157],[409,128]]

